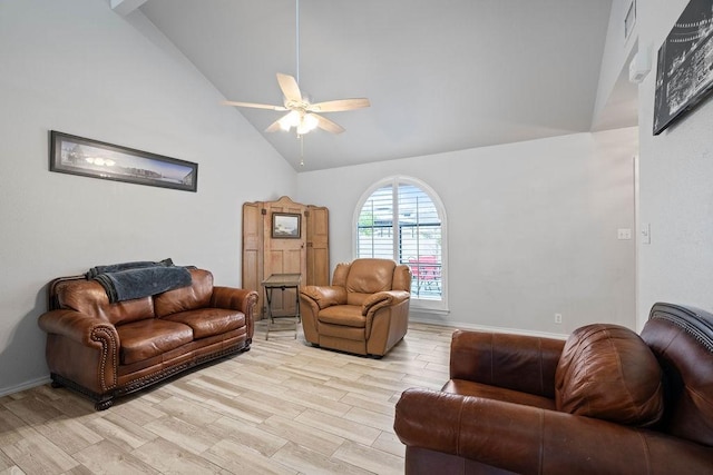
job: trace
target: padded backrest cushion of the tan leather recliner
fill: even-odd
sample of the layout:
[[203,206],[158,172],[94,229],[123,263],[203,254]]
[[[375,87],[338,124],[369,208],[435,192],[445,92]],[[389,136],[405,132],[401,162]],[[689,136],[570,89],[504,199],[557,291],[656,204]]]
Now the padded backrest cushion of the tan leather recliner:
[[355,259],[346,276],[346,303],[362,305],[378,291],[391,290],[393,269],[397,263],[390,259]]

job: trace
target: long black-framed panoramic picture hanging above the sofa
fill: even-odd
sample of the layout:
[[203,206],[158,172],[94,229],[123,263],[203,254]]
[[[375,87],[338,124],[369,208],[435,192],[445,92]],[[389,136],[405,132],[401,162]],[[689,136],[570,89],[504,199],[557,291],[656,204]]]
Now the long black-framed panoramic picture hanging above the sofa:
[[49,169],[105,180],[196,191],[198,164],[50,131]]

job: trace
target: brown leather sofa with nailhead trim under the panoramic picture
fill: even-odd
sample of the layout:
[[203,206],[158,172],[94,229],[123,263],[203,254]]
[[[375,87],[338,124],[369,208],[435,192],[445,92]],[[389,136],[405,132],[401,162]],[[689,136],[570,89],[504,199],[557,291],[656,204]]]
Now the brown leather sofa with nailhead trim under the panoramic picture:
[[248,350],[257,293],[214,286],[207,270],[189,273],[189,286],[117,303],[85,276],[52,280],[49,310],[39,317],[52,386],[78,390],[101,410],[118,396]]

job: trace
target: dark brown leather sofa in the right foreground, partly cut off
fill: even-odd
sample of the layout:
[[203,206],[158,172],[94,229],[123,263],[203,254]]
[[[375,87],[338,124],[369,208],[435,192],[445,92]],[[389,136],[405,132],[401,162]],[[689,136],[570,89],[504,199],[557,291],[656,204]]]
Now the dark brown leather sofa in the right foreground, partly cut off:
[[456,331],[442,390],[408,389],[407,474],[713,473],[713,315],[656,304],[641,337]]

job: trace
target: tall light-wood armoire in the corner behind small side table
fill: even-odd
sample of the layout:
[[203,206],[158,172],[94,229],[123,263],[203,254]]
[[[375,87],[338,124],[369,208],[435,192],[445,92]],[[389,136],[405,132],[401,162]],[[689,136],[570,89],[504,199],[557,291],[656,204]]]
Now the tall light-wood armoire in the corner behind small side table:
[[[300,216],[297,237],[273,238],[273,214]],[[264,318],[265,293],[261,283],[272,274],[301,274],[302,286],[329,285],[329,210],[302,205],[283,196],[276,201],[243,205],[243,288],[257,290],[256,318]],[[274,293],[273,311],[295,313],[294,290]]]

